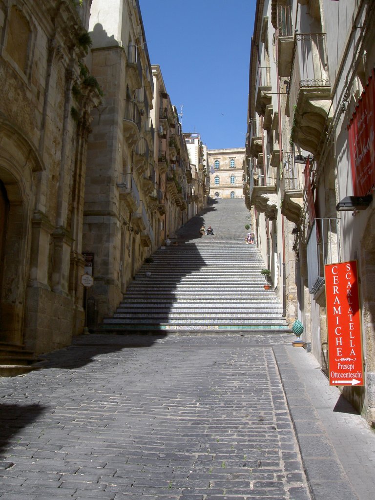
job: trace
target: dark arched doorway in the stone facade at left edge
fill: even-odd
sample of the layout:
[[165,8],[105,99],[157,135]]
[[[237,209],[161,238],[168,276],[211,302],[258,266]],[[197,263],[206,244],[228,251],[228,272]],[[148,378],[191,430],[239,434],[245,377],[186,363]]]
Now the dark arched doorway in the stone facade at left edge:
[[[34,173],[42,162],[33,145],[8,121],[0,117],[0,339],[25,344],[25,315],[35,318],[36,299],[29,304],[27,290],[47,275],[45,258],[40,258],[40,239],[44,230],[42,214],[33,220]],[[40,215],[40,216],[39,216]],[[49,226],[48,226],[49,227]],[[49,229],[45,229],[47,232]],[[47,238],[46,238],[47,239]],[[43,254],[45,257],[45,254]],[[40,265],[42,261],[43,272]],[[43,291],[47,288],[43,280]],[[28,286],[29,285],[29,286]],[[33,308],[32,308],[33,307]],[[32,331],[34,335],[34,331]],[[31,336],[32,336],[31,335]],[[32,336],[32,340],[35,335]],[[29,337],[27,337],[27,340]],[[27,345],[27,348],[32,346]]]

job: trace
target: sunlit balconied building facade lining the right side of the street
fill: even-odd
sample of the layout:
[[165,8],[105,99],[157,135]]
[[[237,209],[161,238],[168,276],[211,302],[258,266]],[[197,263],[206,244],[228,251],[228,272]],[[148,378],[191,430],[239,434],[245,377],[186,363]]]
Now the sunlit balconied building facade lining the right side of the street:
[[324,266],[356,262],[361,345],[355,347],[364,384],[337,385],[370,423],[375,421],[374,28],[374,9],[366,0],[257,0],[244,186],[285,315],[290,324],[302,322],[305,346],[327,375],[332,311],[326,306]]

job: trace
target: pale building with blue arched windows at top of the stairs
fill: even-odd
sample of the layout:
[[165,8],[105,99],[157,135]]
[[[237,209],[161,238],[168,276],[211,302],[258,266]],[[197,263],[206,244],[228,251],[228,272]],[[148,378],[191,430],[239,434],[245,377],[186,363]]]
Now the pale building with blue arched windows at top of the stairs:
[[245,149],[208,149],[210,195],[213,198],[242,198]]

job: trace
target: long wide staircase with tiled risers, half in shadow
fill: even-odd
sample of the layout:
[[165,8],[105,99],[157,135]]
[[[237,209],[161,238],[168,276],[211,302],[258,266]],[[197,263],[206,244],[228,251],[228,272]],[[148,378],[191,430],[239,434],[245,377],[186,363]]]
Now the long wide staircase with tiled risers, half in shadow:
[[[142,266],[101,332],[290,331],[274,291],[264,289],[257,246],[244,242],[243,200],[221,200],[213,208],[191,219]],[[213,236],[199,235],[202,221],[214,227]]]

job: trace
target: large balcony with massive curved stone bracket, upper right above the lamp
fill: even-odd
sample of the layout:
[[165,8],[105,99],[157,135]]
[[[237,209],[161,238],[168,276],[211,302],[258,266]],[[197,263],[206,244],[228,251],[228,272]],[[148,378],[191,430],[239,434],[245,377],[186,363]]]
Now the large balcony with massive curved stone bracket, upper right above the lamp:
[[325,33],[297,33],[285,111],[292,122],[291,140],[315,158],[329,125],[330,104]]

